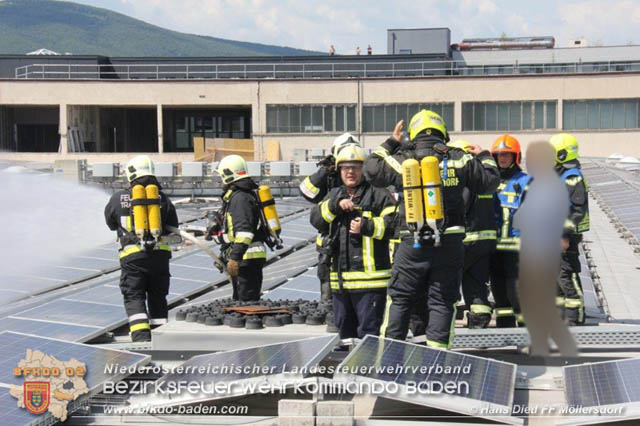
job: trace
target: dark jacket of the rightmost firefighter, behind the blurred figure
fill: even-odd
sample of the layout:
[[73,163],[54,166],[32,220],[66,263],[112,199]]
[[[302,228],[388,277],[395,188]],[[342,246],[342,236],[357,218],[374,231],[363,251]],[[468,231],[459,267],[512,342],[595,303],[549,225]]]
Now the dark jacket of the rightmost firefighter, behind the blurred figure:
[[556,166],[556,172],[569,191],[569,217],[565,222],[564,237],[579,235],[589,230],[589,196],[580,162],[574,160]]

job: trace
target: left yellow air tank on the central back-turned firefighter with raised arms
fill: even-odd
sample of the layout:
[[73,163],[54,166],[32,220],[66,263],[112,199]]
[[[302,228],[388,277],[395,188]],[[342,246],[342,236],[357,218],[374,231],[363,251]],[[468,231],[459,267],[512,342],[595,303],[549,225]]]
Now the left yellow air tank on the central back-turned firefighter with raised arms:
[[420,163],[409,158],[402,162],[402,193],[404,214],[409,230],[413,232],[413,247],[420,248],[419,231],[424,225],[422,187],[420,185]]

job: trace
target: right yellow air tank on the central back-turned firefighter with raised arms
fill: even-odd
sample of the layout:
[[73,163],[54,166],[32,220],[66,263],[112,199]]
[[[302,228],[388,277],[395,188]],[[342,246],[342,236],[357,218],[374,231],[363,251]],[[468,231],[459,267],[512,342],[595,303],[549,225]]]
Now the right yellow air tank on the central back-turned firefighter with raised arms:
[[430,155],[420,161],[422,171],[422,188],[424,200],[424,213],[429,228],[433,230],[435,245],[440,245],[440,232],[437,221],[444,219],[442,207],[442,179],[440,178],[440,165],[436,157]]

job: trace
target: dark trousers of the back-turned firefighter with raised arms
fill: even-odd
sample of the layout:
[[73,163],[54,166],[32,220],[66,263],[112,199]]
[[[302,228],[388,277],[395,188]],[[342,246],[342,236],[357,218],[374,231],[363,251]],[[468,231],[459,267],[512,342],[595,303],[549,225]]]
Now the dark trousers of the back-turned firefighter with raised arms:
[[424,241],[420,248],[414,248],[410,239],[402,240],[397,247],[387,289],[381,335],[406,339],[412,308],[417,301],[426,298],[426,307],[417,311],[427,311],[427,345],[450,347],[455,305],[460,296],[458,274],[464,259],[462,238],[462,234],[443,235],[439,247]]

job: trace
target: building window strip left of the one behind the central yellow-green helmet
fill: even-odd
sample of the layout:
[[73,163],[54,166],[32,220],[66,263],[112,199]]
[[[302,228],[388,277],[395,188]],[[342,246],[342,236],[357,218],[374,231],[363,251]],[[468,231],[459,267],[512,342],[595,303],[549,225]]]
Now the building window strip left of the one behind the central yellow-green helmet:
[[267,133],[355,130],[355,105],[267,105]]

